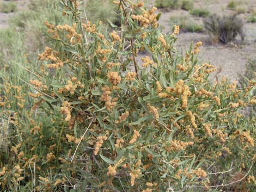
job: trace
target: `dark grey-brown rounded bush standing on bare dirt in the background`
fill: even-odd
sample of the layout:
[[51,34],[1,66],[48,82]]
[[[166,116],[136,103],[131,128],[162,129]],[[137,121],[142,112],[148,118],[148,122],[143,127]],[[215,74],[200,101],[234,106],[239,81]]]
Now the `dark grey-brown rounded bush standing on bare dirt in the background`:
[[204,20],[204,27],[211,35],[211,38],[227,44],[240,35],[241,40],[245,38],[243,32],[243,21],[236,15],[220,17],[216,14]]

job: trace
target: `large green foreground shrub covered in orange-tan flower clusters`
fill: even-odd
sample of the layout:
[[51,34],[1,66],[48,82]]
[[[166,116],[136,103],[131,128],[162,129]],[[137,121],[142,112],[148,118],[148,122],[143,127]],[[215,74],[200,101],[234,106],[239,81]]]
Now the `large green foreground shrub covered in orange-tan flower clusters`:
[[162,34],[156,8],[114,4],[111,32],[71,0],[61,3],[71,23],[45,22],[56,46],[27,83],[34,106],[21,101],[28,87],[3,87],[1,110],[19,110],[3,124],[13,139],[0,155],[2,191],[255,190],[255,118],[240,113],[256,102],[255,80],[210,83],[202,42],[181,54],[179,26]]

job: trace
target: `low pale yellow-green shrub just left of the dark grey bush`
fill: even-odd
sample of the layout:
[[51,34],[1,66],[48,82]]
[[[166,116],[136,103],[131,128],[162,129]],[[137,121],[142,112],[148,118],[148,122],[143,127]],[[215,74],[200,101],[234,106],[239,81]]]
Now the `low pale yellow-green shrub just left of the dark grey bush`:
[[179,25],[180,30],[183,32],[204,32],[204,28],[202,25],[198,24],[198,22],[194,21],[192,18],[187,16],[170,17],[170,26],[173,27],[174,25]]

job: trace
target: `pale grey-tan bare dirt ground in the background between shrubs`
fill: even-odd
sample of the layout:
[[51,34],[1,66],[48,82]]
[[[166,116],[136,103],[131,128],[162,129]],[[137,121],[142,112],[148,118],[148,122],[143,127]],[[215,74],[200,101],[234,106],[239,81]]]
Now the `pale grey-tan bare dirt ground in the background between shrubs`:
[[[3,0],[0,0],[3,1]],[[18,11],[26,10],[29,0],[17,0]],[[149,6],[154,5],[154,0],[149,0]],[[242,5],[246,7],[248,12],[252,9],[256,9],[256,0],[243,0]],[[194,8],[203,8],[210,10],[211,13],[218,15],[233,14],[234,11],[228,10],[227,5],[229,0],[195,0]],[[194,21],[201,23],[202,18],[194,17],[185,10],[163,10],[160,18],[160,26],[163,27],[163,33],[172,32],[172,26],[170,26],[171,16],[189,16],[193,17]],[[8,27],[8,18],[15,13],[4,14],[0,13],[0,29]],[[231,42],[227,45],[212,44],[209,35],[205,33],[180,33],[178,35],[178,41],[176,42],[179,50],[186,49],[191,42],[202,41],[203,46],[199,54],[199,60],[203,63],[209,62],[217,67],[217,77],[226,76],[231,80],[237,78],[237,73],[242,73],[245,70],[245,64],[248,58],[256,57],[256,23],[246,22],[249,13],[241,14],[240,17],[245,21],[245,41]]]

